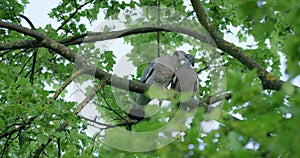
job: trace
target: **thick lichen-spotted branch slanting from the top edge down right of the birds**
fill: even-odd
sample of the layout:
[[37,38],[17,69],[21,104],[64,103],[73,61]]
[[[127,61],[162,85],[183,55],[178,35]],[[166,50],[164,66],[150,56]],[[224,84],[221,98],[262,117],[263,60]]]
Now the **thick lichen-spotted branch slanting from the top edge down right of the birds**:
[[201,25],[208,31],[217,47],[229,55],[233,56],[244,64],[248,69],[257,69],[258,77],[262,81],[264,89],[279,90],[282,86],[282,81],[274,77],[272,74],[267,72],[259,63],[243,52],[242,48],[235,46],[234,44],[225,41],[214,28],[206,15],[205,8],[200,3],[200,0],[191,0],[194,11],[196,12],[197,18]]

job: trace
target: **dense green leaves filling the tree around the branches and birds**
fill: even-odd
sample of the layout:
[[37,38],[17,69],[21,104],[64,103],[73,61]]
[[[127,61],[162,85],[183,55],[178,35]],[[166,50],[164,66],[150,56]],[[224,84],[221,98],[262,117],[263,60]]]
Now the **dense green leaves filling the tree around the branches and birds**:
[[[22,16],[24,9],[29,2],[0,0],[0,19],[20,24],[21,19],[24,18]],[[277,78],[284,75],[280,71],[280,58],[287,59],[283,64],[287,65],[285,74],[288,75],[288,81],[282,85],[281,90],[264,90],[256,70],[248,70],[226,52],[216,49],[214,44],[202,43],[188,35],[176,32],[160,31],[159,45],[157,32],[126,36],[123,38],[124,42],[132,46],[132,50],[128,50],[126,56],[137,71],[125,78],[138,81],[147,62],[157,57],[158,47],[160,55],[171,54],[179,47],[186,48],[187,50],[184,51],[196,56],[195,70],[199,71],[201,83],[197,93],[198,99],[204,101],[207,97],[220,92],[230,92],[232,97],[222,101],[218,104],[218,108],[212,108],[209,112],[200,107],[195,111],[191,124],[183,128],[178,127],[180,132],[175,136],[172,135],[172,131],[166,132],[165,134],[168,135],[165,137],[166,140],[162,138],[158,140],[161,142],[172,140],[166,146],[161,147],[157,143],[152,151],[122,151],[119,150],[120,148],[107,145],[106,140],[115,139],[114,141],[120,144],[132,141],[136,144],[128,144],[139,147],[146,144],[141,141],[145,139],[132,140],[130,133],[114,133],[115,126],[105,125],[96,129],[99,133],[88,136],[86,129],[93,123],[74,112],[79,102],[66,99],[65,94],[75,92],[65,89],[60,97],[52,97],[77,70],[74,63],[67,61],[57,52],[43,47],[34,48],[30,45],[22,49],[1,47],[0,157],[33,157],[41,147],[43,151],[40,157],[297,157],[300,155],[300,92],[299,88],[290,84],[290,81],[300,74],[298,0],[289,2],[209,0],[202,4],[213,26],[222,36],[230,33],[229,26],[234,26],[238,29],[236,36],[240,42],[254,37],[255,45],[245,46],[243,51],[272,75]],[[160,25],[186,27],[208,36],[198,22],[189,1],[159,0],[161,9],[159,14],[157,5],[157,0],[139,2],[62,0],[49,13],[49,17],[57,20],[61,26],[54,28],[49,24],[30,29],[36,29],[49,38],[59,41],[68,36],[88,34],[91,30],[87,30],[82,19],[94,23],[98,14],[104,13],[106,20],[122,21],[126,28],[157,25],[157,17],[160,16]],[[133,16],[135,11],[142,11],[143,15]],[[120,20],[119,15],[123,15],[124,18]],[[103,30],[105,32],[114,30],[109,27]],[[0,28],[0,37],[1,43],[33,39],[4,28]],[[111,47],[114,47],[113,43]],[[111,73],[117,63],[115,61],[117,55],[114,51],[109,48],[97,48],[93,43],[69,45],[68,48],[106,72]],[[201,78],[202,73],[207,74],[207,80]],[[92,80],[93,83],[98,82],[91,76],[83,75],[76,78],[73,83],[80,85],[88,80]],[[45,88],[46,85],[51,88]],[[86,87],[83,90],[85,95],[88,95],[92,88],[93,86]],[[159,97],[159,90],[157,94]],[[116,128],[124,130],[125,126],[122,123],[127,121],[126,111],[129,110],[134,97],[134,92],[106,85],[92,102],[96,105],[102,122],[117,125]],[[175,102],[176,99],[173,101]],[[149,113],[154,113],[158,109],[157,106],[147,108]],[[170,109],[161,108],[161,112],[153,115],[149,120],[133,125],[132,131],[153,131],[164,127],[170,120],[176,118],[176,114],[179,117],[193,115],[189,113],[186,116],[180,110],[176,112],[173,105]],[[236,119],[233,114],[239,114],[241,118]],[[170,119],[165,121],[167,117]],[[210,120],[219,122],[219,128],[210,132],[203,131],[201,124]],[[63,127],[64,123],[67,123],[66,127]],[[151,141],[156,138],[147,139]]]

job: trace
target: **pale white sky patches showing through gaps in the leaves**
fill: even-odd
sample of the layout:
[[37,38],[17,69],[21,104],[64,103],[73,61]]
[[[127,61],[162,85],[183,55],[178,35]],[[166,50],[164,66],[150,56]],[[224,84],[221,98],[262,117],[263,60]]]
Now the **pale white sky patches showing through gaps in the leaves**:
[[[47,24],[51,24],[54,28],[57,28],[60,23],[56,22],[53,19],[50,19],[48,17],[48,13],[50,13],[51,8],[56,7],[58,5],[59,1],[58,0],[30,0],[30,3],[26,6],[25,8],[25,16],[27,16],[35,25],[35,27],[45,27]],[[189,3],[189,2],[186,2]],[[190,8],[192,9],[192,8]],[[105,22],[104,20],[104,14],[100,14],[98,15],[98,20],[93,22],[93,24],[91,25],[89,23],[89,21],[87,19],[82,19],[83,23],[86,24],[86,27],[88,30],[91,31],[98,31],[99,29],[99,25],[103,25],[103,22]],[[22,24],[26,27],[29,27],[29,25],[25,22],[22,21]],[[230,41],[232,43],[234,43],[236,46],[242,47],[242,48],[256,48],[256,43],[254,42],[254,38],[252,36],[248,37],[247,40],[245,42],[239,42],[239,39],[237,38],[237,33],[239,31],[239,28],[233,27],[233,26],[229,26],[229,30],[232,33],[227,33],[225,34],[224,39],[227,41]],[[100,31],[100,30],[99,30]],[[268,42],[267,42],[268,44]],[[269,45],[269,44],[268,44]],[[182,46],[180,48],[178,48],[178,50],[184,50],[186,49],[186,46]],[[128,75],[130,73],[132,73],[133,71],[136,71],[136,69],[130,65],[129,62],[126,62],[126,51],[130,51],[131,46],[129,46],[128,44],[124,44],[124,40],[123,39],[115,39],[115,40],[111,40],[111,42],[109,43],[109,49],[112,50],[114,52],[114,55],[116,56],[116,62],[117,64],[115,65],[114,68],[114,74],[117,74],[120,77],[123,77],[124,75]],[[125,50],[125,51],[124,51]],[[285,69],[286,69],[286,58],[282,53],[279,53],[279,55],[281,56],[280,62],[280,69],[281,69],[281,73],[285,74]],[[118,67],[118,63],[122,63],[124,62],[124,64],[127,66],[119,66]],[[123,65],[124,65],[123,64]],[[120,65],[120,64],[119,64]],[[121,67],[121,68],[120,68]],[[117,68],[117,69],[116,69]],[[268,68],[266,68],[267,70],[270,70]],[[205,75],[203,75],[203,79],[205,80]],[[288,75],[283,75],[281,78],[281,80],[287,81],[288,80]],[[292,83],[295,85],[300,86],[300,75],[298,75],[294,80],[292,80]],[[78,85],[74,85],[71,84],[67,90],[71,93],[72,90],[74,91],[74,87],[78,88]],[[82,89],[84,89],[83,85],[81,85]],[[52,89],[51,86],[47,86],[47,89]],[[75,88],[76,89],[76,88]],[[79,102],[81,99],[83,100],[85,95],[84,93],[80,93],[80,94],[69,94],[66,95],[69,96],[68,98],[65,98],[68,101],[77,101]],[[85,116],[96,116],[98,115],[98,113],[96,112],[97,110],[95,109],[95,107],[91,104],[89,104],[87,106],[87,108],[83,109],[83,111],[81,112],[81,114],[85,115]],[[241,118],[239,114],[231,114],[237,118]],[[215,124],[216,126],[218,126],[219,124]],[[212,127],[208,127],[209,129],[212,129]],[[208,130],[209,130],[208,129]],[[91,130],[91,129],[90,129]],[[88,132],[88,133],[93,133],[92,131]]]

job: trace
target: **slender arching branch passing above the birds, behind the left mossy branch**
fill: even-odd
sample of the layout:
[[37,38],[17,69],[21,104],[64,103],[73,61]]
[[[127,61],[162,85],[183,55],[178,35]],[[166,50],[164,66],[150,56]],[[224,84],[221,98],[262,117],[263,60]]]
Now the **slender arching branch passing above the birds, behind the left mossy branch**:
[[[120,31],[111,31],[111,32],[91,32],[88,34],[70,36],[57,42],[65,46],[69,46],[75,44],[117,39],[129,35],[157,32],[157,31],[182,33],[194,37],[195,39],[198,39],[201,42],[208,43],[211,44],[212,46],[215,46],[213,41],[208,36],[203,35],[198,31],[186,27],[182,27],[182,26],[176,26],[176,25],[145,26],[145,27],[136,27],[136,28],[124,29]],[[36,47],[42,47],[42,44],[39,42],[39,40],[22,40],[22,41],[0,43],[0,50],[15,50],[15,49],[36,48]]]

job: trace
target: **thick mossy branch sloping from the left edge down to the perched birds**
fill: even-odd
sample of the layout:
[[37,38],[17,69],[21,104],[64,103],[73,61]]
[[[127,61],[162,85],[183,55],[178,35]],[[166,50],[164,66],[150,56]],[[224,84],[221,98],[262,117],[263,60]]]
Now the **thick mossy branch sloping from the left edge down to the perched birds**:
[[59,55],[63,56],[65,59],[69,60],[72,63],[75,63],[80,68],[88,68],[93,71],[86,72],[86,74],[95,76],[95,78],[99,80],[103,80],[106,84],[110,84],[116,88],[129,90],[137,93],[143,93],[145,90],[149,88],[150,85],[140,83],[140,82],[134,82],[131,80],[126,80],[123,78],[120,78],[115,75],[111,75],[102,69],[98,68],[96,65],[88,62],[86,59],[81,57],[80,55],[76,54],[71,49],[67,48],[65,45],[60,44],[49,37],[45,36],[44,34],[35,31],[30,30],[25,27],[21,27],[16,24],[8,23],[0,21],[0,27],[7,28],[10,30],[14,30],[20,33],[23,33],[28,36],[32,36],[36,38],[37,40],[41,41],[42,46],[49,48],[51,50],[54,50]]

